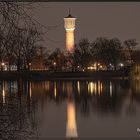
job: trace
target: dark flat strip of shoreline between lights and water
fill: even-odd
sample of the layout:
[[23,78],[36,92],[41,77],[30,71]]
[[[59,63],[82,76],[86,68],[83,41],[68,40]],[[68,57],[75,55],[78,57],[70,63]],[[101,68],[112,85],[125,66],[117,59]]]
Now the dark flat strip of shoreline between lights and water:
[[52,72],[52,71],[1,71],[0,80],[96,80],[129,79],[123,71],[86,71],[86,72]]

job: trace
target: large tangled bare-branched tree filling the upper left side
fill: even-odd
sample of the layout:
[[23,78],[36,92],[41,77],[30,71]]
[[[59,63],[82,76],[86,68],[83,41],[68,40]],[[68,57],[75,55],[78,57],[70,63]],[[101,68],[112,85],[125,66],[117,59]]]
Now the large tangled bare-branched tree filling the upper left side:
[[23,66],[29,68],[41,39],[42,25],[26,13],[28,6],[32,4],[0,2],[0,59],[8,62],[9,70],[11,64],[16,64],[18,71]]

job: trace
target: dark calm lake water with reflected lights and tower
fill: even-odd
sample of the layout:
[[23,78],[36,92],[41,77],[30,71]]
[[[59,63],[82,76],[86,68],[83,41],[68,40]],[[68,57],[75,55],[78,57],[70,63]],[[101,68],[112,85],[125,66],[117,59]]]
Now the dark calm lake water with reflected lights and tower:
[[140,138],[139,80],[0,81],[0,139]]

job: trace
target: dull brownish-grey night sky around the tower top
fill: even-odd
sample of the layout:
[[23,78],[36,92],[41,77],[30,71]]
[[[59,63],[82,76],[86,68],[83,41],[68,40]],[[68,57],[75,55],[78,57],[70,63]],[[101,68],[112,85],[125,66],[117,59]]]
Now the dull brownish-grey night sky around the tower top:
[[54,50],[65,48],[63,17],[77,17],[75,42],[81,38],[90,41],[97,37],[118,37],[120,40],[136,38],[140,42],[139,2],[42,2],[32,16],[45,26],[54,26],[44,36],[44,45]]

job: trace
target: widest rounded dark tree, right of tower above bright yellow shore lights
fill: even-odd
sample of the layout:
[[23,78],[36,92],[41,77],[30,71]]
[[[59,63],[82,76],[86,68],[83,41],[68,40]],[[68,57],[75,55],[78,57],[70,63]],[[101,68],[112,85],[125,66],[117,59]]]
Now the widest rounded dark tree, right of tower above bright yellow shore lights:
[[92,53],[96,62],[100,62],[108,66],[113,64],[116,70],[117,63],[121,60],[122,45],[119,39],[97,38],[92,43]]

